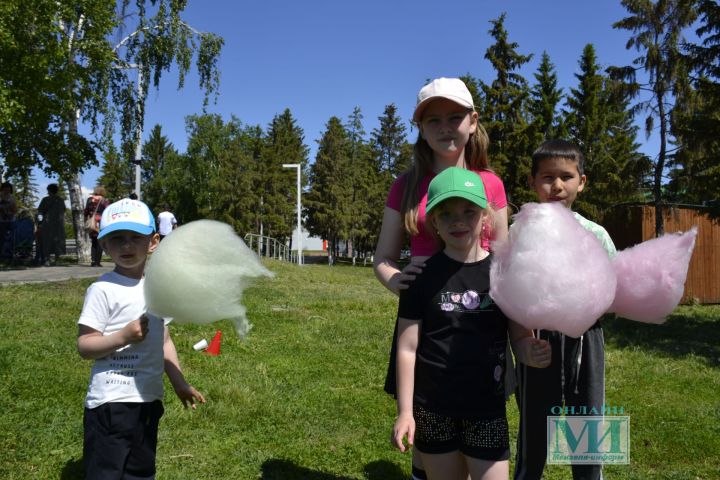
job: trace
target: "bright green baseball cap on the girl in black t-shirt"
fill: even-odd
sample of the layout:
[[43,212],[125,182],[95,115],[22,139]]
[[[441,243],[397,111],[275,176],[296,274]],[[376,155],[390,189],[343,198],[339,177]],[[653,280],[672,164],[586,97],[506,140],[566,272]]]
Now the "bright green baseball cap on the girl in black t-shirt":
[[441,202],[455,197],[464,198],[480,208],[487,207],[485,187],[480,176],[464,168],[448,167],[430,182],[425,212],[429,213]]

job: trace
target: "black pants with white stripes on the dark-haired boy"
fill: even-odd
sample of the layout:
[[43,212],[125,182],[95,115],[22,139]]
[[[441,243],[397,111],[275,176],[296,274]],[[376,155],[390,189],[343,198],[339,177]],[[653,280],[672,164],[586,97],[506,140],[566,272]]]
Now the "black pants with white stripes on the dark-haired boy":
[[[600,323],[581,338],[559,332],[540,331],[540,338],[552,346],[552,363],[532,368],[518,363],[516,399],[520,411],[515,480],[541,479],[547,457],[547,417],[575,407],[602,412],[605,403],[605,340]],[[584,407],[584,410],[583,408]],[[585,413],[585,415],[591,415]],[[602,413],[599,413],[602,415]],[[602,465],[572,465],[574,480],[599,480]]]

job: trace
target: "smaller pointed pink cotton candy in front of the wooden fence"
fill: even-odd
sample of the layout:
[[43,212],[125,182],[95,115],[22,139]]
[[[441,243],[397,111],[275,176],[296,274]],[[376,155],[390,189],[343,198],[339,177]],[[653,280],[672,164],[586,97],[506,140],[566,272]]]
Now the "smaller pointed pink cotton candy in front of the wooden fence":
[[610,311],[638,322],[663,323],[682,298],[696,236],[693,227],[619,252],[612,262],[617,290]]

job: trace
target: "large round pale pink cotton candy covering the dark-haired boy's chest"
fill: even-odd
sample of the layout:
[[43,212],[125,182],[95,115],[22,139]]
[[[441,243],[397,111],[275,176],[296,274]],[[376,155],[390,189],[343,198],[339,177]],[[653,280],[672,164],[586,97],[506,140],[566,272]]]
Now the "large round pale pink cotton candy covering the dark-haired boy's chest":
[[496,243],[490,296],[531,329],[579,337],[610,307],[615,272],[598,238],[559,203],[528,203]]

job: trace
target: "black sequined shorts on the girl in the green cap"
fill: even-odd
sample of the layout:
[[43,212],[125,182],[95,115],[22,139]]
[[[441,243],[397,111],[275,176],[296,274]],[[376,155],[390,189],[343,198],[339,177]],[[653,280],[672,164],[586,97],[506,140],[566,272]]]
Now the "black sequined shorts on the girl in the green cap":
[[498,461],[510,458],[507,418],[464,420],[431,412],[413,405],[414,446],[421,453],[450,453],[459,450],[468,457]]

